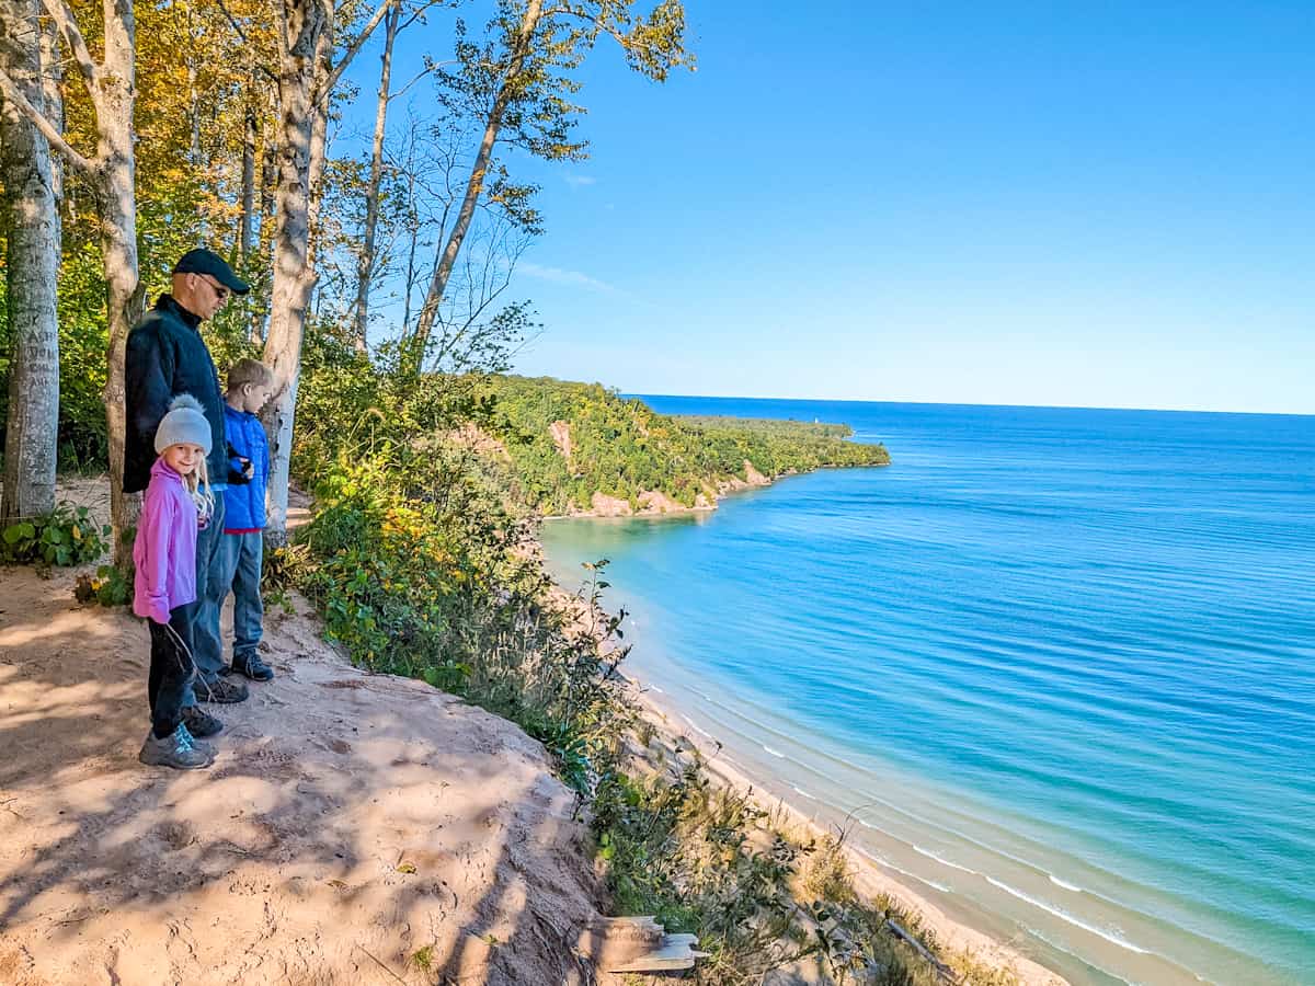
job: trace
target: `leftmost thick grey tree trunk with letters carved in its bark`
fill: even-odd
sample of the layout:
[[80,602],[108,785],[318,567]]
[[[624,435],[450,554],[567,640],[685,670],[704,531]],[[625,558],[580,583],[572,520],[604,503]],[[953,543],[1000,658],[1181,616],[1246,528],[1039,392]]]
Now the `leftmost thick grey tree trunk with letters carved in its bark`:
[[[50,116],[42,83],[42,29],[33,0],[0,0],[0,64]],[[50,145],[0,99],[0,184],[8,239],[7,298],[13,335],[0,527],[55,509],[59,444],[59,208]]]

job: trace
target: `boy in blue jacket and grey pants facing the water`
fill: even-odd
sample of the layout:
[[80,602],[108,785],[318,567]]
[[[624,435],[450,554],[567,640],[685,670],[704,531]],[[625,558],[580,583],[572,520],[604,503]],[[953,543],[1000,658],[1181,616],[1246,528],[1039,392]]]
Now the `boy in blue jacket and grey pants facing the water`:
[[260,660],[260,560],[264,553],[264,494],[270,482],[270,443],[256,413],[274,396],[274,371],[254,359],[229,369],[224,427],[229,442],[229,485],[224,490],[224,536],[214,605],[233,589],[233,673],[268,681],[274,669]]

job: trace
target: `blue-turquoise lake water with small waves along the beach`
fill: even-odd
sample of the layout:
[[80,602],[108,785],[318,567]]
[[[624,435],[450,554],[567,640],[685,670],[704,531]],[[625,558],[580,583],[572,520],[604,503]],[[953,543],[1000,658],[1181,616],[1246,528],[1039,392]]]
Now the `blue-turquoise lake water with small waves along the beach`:
[[1315,982],[1315,418],[646,400],[894,460],[544,526],[692,736],[1073,982]]

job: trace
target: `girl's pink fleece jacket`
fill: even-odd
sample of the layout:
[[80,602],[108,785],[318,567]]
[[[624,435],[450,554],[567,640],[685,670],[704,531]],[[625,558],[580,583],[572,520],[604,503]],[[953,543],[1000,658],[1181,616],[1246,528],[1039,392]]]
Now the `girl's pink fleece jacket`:
[[156,459],[137,522],[133,613],[168,623],[168,611],[196,602],[196,504],[183,477]]

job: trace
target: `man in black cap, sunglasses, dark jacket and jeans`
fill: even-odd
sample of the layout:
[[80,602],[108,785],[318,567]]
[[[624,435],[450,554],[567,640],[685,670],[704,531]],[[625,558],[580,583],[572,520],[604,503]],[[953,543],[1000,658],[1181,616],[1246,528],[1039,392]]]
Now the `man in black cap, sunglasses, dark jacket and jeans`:
[[[155,429],[180,393],[201,402],[213,442],[205,468],[214,490],[214,515],[197,534],[196,598],[187,606],[180,635],[196,660],[196,678],[183,699],[183,722],[193,736],[213,736],[224,728],[213,715],[196,707],[203,702],[241,702],[247,688],[220,674],[224,668],[220,643],[220,611],[206,606],[206,584],[216,568],[217,547],[224,536],[224,494],[229,481],[227,444],[224,438],[224,394],[210,351],[200,326],[224,308],[231,294],[250,287],[233,273],[224,258],[209,250],[189,250],[174,267],[174,284],[155,308],[128,334],[125,376],[128,384],[128,440],[124,452],[124,492],[137,493],[150,482],[155,463]],[[181,632],[185,630],[187,632]]]

